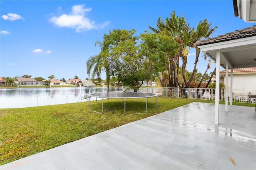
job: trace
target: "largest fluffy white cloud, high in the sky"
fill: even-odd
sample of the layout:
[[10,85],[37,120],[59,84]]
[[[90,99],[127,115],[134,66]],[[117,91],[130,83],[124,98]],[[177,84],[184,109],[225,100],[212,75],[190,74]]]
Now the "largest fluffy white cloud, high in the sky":
[[[50,22],[59,27],[75,28],[76,32],[83,32],[85,30],[103,28],[110,22],[104,22],[97,26],[93,20],[85,16],[85,12],[90,12],[92,8],[84,8],[85,4],[75,5],[72,7],[70,14],[62,14],[60,16],[53,16]],[[60,7],[57,8],[60,11]]]

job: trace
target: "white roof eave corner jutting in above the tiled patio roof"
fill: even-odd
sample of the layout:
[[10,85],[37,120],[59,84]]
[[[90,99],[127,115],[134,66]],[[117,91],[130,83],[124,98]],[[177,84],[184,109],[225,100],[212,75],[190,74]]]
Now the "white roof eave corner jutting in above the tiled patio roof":
[[256,0],[233,0],[234,15],[245,22],[256,22]]

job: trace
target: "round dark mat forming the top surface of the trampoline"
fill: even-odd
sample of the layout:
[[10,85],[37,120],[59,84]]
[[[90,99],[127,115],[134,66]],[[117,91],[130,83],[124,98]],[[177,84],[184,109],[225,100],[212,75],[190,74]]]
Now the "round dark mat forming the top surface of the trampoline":
[[103,98],[144,98],[144,97],[155,97],[154,93],[139,93],[139,92],[102,92],[92,93],[91,97],[103,97]]

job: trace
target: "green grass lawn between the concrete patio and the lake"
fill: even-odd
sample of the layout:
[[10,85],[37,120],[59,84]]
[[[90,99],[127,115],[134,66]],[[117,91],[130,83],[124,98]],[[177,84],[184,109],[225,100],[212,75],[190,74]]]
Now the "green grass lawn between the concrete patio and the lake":
[[[121,99],[104,100],[104,113],[90,112],[88,102],[70,103],[21,109],[0,109],[0,164],[72,142],[114,127],[143,119],[164,111],[198,101],[214,103],[214,101],[178,99],[158,97],[158,108],[155,98],[126,99],[126,113],[142,113],[124,115],[124,102]],[[224,104],[224,103],[222,103]],[[233,103],[234,105],[253,104]],[[92,101],[92,110],[101,111],[101,101]]]

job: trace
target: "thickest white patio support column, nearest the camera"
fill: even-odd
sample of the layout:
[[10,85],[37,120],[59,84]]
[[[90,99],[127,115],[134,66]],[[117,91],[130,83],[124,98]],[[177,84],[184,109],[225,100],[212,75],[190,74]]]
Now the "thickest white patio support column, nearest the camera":
[[220,103],[220,51],[216,53],[215,124],[219,125]]

